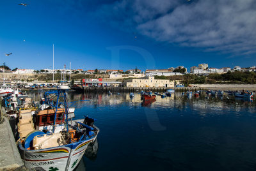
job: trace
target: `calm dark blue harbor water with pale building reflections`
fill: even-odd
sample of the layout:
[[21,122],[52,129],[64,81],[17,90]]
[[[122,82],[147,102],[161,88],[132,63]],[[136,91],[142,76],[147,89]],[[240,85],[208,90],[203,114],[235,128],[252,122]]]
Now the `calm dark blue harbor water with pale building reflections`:
[[[29,92],[35,100],[42,91]],[[152,103],[140,94],[68,93],[76,119],[98,119],[97,154],[80,170],[256,170],[256,103],[234,98],[188,99],[180,93]],[[94,149],[97,149],[96,147]]]

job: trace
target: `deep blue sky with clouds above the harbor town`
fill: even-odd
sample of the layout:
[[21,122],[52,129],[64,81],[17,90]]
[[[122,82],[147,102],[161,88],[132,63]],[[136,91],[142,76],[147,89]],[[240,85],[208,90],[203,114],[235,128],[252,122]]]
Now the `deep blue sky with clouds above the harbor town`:
[[255,66],[255,16],[253,0],[1,0],[0,63],[51,68],[54,43],[54,68]]

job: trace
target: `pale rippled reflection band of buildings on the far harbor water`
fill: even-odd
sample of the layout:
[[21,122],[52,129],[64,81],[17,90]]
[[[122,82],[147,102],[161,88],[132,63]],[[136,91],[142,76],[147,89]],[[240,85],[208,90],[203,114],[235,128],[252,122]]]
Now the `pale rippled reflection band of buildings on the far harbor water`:
[[[39,101],[43,97],[44,91],[28,91],[26,92],[35,101]],[[202,93],[199,97],[186,96],[182,93],[173,93],[171,97],[161,98],[157,96],[156,100],[145,101],[141,100],[140,93],[134,93],[134,97],[130,98],[129,93],[120,93],[108,95],[106,93],[68,93],[68,101],[78,101],[74,104],[76,108],[83,108],[84,105],[91,105],[94,108],[106,106],[122,106],[124,104],[151,108],[186,108],[189,107],[200,110],[205,113],[207,109],[220,111],[223,108],[241,110],[241,108],[249,108],[255,112],[255,101],[246,98],[234,98],[234,96],[207,96]]]

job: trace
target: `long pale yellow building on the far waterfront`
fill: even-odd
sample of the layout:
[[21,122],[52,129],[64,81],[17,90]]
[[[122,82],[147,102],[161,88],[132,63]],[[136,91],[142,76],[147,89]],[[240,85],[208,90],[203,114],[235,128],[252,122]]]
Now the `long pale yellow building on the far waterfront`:
[[[132,79],[132,82],[127,82],[127,87],[174,87],[175,81],[157,80],[154,77],[144,79]],[[177,82],[177,84],[179,84]]]

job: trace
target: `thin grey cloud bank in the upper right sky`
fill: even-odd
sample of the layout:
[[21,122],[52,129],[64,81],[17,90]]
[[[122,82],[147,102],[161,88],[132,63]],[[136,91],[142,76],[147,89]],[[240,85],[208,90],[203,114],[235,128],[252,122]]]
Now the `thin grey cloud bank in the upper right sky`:
[[232,54],[256,49],[254,0],[122,0],[100,6],[95,14],[157,41]]

